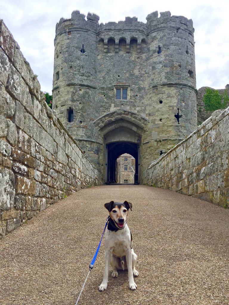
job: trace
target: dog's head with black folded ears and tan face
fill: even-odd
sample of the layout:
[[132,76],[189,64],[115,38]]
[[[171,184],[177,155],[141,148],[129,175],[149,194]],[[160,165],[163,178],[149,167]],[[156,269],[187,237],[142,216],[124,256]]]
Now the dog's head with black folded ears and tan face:
[[114,221],[118,229],[123,229],[126,224],[126,217],[129,209],[132,208],[132,203],[128,201],[122,202],[108,202],[104,204],[105,208],[109,211],[110,218]]

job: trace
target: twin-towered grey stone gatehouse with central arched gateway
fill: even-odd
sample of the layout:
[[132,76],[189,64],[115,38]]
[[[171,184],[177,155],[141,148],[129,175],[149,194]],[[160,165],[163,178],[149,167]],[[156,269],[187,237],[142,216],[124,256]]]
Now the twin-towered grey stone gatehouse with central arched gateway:
[[56,25],[53,109],[97,167],[115,181],[116,159],[149,164],[197,127],[192,20],[151,13],[101,23],[74,11]]

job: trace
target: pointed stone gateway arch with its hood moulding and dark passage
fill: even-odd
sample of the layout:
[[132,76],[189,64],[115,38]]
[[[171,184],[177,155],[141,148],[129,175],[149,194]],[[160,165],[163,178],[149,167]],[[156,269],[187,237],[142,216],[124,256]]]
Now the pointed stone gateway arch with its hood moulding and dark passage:
[[107,113],[94,122],[103,142],[106,183],[116,180],[116,159],[123,153],[129,153],[135,158],[135,183],[140,183],[140,144],[147,122],[145,117],[122,109]]

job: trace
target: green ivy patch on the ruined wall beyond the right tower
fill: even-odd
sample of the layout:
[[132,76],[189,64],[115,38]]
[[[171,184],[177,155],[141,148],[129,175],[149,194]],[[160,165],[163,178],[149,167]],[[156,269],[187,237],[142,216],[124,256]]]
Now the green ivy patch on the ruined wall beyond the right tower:
[[205,110],[210,112],[224,109],[229,105],[229,97],[226,90],[224,90],[224,94],[221,95],[218,90],[206,88],[203,101]]

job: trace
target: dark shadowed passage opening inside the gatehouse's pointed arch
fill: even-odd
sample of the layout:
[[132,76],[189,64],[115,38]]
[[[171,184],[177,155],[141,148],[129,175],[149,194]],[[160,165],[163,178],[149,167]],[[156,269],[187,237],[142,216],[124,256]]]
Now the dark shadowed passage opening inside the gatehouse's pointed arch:
[[139,144],[133,142],[112,142],[106,145],[107,150],[107,173],[106,183],[115,183],[116,159],[123,153],[128,153],[135,159],[135,184],[139,184]]

